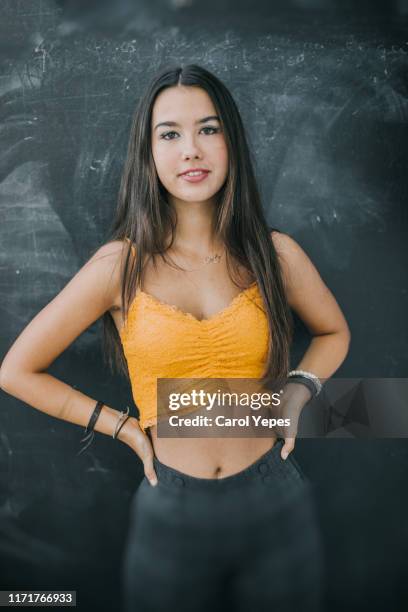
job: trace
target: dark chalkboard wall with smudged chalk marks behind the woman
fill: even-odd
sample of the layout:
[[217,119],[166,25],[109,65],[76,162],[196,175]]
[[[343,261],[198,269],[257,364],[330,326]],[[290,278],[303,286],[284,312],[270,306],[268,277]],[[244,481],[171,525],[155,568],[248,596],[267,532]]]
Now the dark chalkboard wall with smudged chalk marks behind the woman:
[[[230,87],[268,220],[351,327],[336,375],[404,377],[408,2],[152,4],[0,1],[1,357],[104,241],[130,115],[171,60]],[[120,409],[130,390],[105,371],[100,331],[50,372]],[[297,321],[294,363],[307,340]],[[78,458],[79,428],[5,393],[1,407],[0,587],[72,588],[81,609],[113,609],[140,461],[107,437]],[[296,453],[317,483],[327,609],[406,609],[406,443],[299,440]]]

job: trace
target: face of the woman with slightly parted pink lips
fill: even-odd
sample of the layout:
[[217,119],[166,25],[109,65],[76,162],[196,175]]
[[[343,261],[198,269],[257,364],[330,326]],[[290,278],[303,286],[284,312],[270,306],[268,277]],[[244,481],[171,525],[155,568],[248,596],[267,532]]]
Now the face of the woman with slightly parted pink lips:
[[[152,154],[170,202],[209,201],[223,186],[228,150],[216,115],[211,98],[199,87],[169,87],[157,96],[152,113]],[[161,123],[167,125],[158,126]],[[203,180],[189,182],[180,174],[190,168],[209,172]]]

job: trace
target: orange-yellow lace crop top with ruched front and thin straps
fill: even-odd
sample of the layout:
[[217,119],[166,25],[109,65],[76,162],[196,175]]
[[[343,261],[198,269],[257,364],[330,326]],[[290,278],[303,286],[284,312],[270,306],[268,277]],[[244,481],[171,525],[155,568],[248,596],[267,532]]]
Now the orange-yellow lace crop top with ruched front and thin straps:
[[260,378],[269,327],[257,283],[201,320],[138,289],[120,339],[145,431],[158,422],[158,378]]

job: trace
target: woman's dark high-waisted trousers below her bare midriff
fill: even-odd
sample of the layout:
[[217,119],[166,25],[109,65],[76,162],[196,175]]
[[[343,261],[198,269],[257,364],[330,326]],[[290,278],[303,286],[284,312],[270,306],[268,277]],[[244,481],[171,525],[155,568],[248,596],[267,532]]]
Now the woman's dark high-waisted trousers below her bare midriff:
[[130,508],[124,612],[319,612],[313,485],[275,442],[247,468],[196,478],[154,457]]

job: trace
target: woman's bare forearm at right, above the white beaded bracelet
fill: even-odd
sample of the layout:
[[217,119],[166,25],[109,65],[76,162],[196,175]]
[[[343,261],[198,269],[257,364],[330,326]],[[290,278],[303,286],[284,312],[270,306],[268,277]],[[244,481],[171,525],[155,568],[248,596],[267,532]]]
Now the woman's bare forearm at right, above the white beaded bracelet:
[[296,370],[306,370],[320,379],[330,378],[343,363],[349,350],[347,331],[314,336]]

